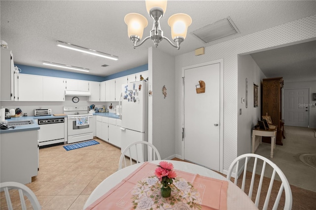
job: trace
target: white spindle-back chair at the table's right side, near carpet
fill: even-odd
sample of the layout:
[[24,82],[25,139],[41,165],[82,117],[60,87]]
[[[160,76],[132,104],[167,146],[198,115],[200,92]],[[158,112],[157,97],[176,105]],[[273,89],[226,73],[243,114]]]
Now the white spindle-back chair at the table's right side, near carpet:
[[[274,180],[276,177],[276,174],[279,176],[279,178],[281,179],[281,185],[278,189],[278,193],[276,196],[276,200],[273,206],[273,210],[276,210],[278,205],[279,205],[279,201],[284,189],[285,192],[285,203],[284,203],[284,210],[291,210],[292,209],[292,191],[290,188],[290,185],[285,177],[285,175],[283,174],[283,172],[276,166],[275,163],[273,163],[271,160],[262,157],[258,154],[243,154],[238,156],[231,164],[231,166],[229,167],[228,170],[228,175],[227,175],[227,179],[231,180],[231,176],[233,173],[233,170],[236,169],[235,171],[235,181],[234,183],[237,185],[237,178],[238,178],[238,172],[240,170],[242,170],[242,167],[240,167],[239,169],[239,165],[244,164],[243,167],[243,176],[242,176],[242,183],[241,183],[241,190],[245,192],[245,179],[246,179],[246,172],[247,172],[247,165],[248,165],[248,161],[254,158],[254,165],[253,165],[253,170],[252,170],[252,175],[251,175],[251,183],[249,186],[249,193],[248,193],[248,197],[251,199],[252,197],[252,193],[254,190],[254,183],[258,183],[258,181],[255,181],[255,176],[258,177],[258,175],[256,175],[256,170],[257,172],[260,172],[260,169],[257,169],[257,165],[259,165],[258,161],[262,162],[262,168],[261,168],[261,175],[260,175],[260,180],[258,183],[258,189],[257,189],[257,194],[256,194],[256,199],[255,199],[255,205],[258,207],[259,205],[259,200],[260,200],[260,195],[261,195],[261,191],[262,191],[262,183],[263,183],[263,179],[264,179],[264,175],[265,175],[265,171],[266,171],[266,165],[270,165],[273,169],[272,175],[271,175],[271,180],[270,180],[270,184],[269,184],[269,188],[267,190],[267,196],[265,198],[265,202],[263,205],[263,210],[267,210],[268,209],[268,205],[269,205],[269,201],[271,200],[271,192],[272,192],[272,188],[277,187],[276,184],[274,185]],[[261,164],[261,163],[260,163]],[[268,168],[268,167],[267,167]],[[269,170],[267,170],[269,171]],[[267,173],[267,172],[266,172]],[[258,178],[257,178],[258,179]],[[264,187],[266,187],[266,185],[264,185]],[[256,189],[256,186],[255,186]],[[271,209],[271,207],[269,207],[269,209]]]

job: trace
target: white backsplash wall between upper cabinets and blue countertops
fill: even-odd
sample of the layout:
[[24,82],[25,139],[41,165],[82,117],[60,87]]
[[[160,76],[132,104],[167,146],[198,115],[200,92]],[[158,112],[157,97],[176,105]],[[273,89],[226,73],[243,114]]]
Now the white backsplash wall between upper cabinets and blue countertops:
[[64,106],[90,106],[95,105],[97,108],[102,108],[103,105],[109,109],[109,106],[112,104],[113,109],[116,108],[118,102],[89,102],[87,101],[89,98],[87,96],[78,96],[79,102],[74,103],[72,101],[74,96],[66,96],[64,102],[6,102],[0,101],[0,106],[5,106],[10,108],[17,108],[19,107],[22,109],[23,113],[27,113],[28,116],[34,116],[34,109],[36,108],[51,108],[52,114],[62,114]]

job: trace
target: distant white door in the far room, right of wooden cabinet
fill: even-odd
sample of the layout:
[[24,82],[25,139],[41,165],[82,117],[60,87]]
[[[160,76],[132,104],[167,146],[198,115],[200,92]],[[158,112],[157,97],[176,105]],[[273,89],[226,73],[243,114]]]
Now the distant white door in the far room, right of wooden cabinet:
[[309,89],[284,89],[284,125],[308,127]]

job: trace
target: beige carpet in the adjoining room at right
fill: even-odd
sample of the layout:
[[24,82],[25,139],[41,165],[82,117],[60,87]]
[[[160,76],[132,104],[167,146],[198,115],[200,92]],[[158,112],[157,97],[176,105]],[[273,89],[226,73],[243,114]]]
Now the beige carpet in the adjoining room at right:
[[[255,153],[272,160],[290,184],[316,192],[316,167],[313,167],[316,165],[314,129],[285,126],[283,145],[276,145],[273,158],[270,158],[270,150],[269,143],[262,143]],[[252,170],[252,161],[249,162],[249,167],[248,171]],[[266,170],[265,176],[271,177],[272,169]]]

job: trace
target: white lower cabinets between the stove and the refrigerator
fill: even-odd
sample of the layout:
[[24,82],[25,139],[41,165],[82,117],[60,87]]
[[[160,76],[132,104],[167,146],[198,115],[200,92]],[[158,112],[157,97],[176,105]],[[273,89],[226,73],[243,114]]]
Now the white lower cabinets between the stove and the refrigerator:
[[96,136],[117,147],[121,147],[121,120],[96,116]]

